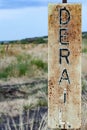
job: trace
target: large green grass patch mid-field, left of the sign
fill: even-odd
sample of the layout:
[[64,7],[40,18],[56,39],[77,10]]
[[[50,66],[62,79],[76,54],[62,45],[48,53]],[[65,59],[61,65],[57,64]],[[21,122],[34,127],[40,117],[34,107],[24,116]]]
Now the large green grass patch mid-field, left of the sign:
[[16,61],[1,68],[0,78],[10,78],[10,77],[34,77],[39,75],[37,72],[47,72],[48,65],[41,59],[33,59],[31,55],[18,55],[16,56]]

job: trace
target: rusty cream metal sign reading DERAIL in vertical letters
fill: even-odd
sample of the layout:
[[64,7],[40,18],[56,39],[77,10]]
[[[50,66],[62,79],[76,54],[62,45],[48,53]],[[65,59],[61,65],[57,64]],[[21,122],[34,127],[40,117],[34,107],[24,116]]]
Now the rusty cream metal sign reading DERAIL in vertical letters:
[[48,127],[81,127],[81,5],[48,7]]

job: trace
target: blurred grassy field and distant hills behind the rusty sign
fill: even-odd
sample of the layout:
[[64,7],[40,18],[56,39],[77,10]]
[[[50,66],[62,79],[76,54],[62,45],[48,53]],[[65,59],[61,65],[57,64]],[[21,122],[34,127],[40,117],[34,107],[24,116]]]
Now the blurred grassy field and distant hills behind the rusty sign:
[[[50,130],[47,43],[47,36],[0,42],[1,130]],[[87,130],[87,32],[82,33],[82,130]]]

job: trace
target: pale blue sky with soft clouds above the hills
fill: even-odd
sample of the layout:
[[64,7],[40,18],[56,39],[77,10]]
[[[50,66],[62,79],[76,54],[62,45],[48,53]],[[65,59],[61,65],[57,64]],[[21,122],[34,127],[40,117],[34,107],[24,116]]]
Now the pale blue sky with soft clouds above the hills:
[[[82,3],[82,31],[87,31],[87,1]],[[0,41],[48,35],[48,3],[62,0],[0,0]]]

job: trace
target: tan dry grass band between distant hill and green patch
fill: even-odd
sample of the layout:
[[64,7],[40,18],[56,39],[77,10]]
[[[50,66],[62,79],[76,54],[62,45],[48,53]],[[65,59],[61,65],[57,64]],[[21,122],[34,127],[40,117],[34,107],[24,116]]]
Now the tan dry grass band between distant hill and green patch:
[[43,60],[47,61],[47,44],[9,44],[7,49],[7,45],[0,45],[0,58],[2,59],[4,56],[7,57],[16,57],[19,54],[31,54],[34,57],[43,58]]

